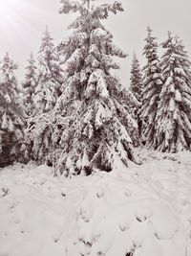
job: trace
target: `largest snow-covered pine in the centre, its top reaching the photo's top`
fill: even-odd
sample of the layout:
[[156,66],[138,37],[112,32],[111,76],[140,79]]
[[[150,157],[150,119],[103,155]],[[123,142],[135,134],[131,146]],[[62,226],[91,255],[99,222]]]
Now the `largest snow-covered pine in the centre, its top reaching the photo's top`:
[[109,12],[123,9],[117,1],[97,2],[61,0],[60,13],[79,13],[70,25],[73,35],[59,47],[68,73],[56,105],[62,118],[58,169],[65,175],[111,171],[115,158],[125,165],[129,159],[136,161],[129,135],[136,122],[121,105],[121,86],[110,73],[119,68],[112,57],[125,58],[125,54],[100,22]]

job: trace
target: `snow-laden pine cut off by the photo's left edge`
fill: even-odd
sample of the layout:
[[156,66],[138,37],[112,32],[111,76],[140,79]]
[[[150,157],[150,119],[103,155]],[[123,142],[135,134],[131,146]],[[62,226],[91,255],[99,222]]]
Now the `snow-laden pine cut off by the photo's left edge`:
[[14,71],[17,65],[6,54],[0,69],[0,158],[1,166],[23,160],[25,113]]

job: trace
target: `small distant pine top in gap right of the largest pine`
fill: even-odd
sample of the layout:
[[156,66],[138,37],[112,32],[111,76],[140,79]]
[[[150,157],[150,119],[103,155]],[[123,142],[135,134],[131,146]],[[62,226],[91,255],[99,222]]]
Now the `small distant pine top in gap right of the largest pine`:
[[136,54],[134,54],[132,69],[131,69],[131,84],[130,88],[133,94],[136,96],[138,102],[141,102],[142,93],[142,74]]

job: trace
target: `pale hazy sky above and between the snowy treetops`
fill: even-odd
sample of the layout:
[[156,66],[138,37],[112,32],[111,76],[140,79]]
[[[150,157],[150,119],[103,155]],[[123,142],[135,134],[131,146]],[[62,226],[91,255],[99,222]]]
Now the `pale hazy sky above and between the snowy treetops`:
[[[107,1],[107,0],[106,0]],[[108,0],[109,2],[110,0]],[[123,83],[129,83],[129,73],[133,52],[141,62],[143,39],[146,27],[153,28],[159,43],[167,31],[180,35],[186,50],[191,54],[191,0],[121,0],[125,12],[111,15],[106,22],[120,46],[129,58],[120,61],[118,76]],[[59,0],[0,0],[0,58],[5,52],[19,63],[19,76],[22,77],[26,59],[31,51],[38,51],[40,38],[48,25],[55,42],[67,35],[67,25],[74,15],[58,14]]]

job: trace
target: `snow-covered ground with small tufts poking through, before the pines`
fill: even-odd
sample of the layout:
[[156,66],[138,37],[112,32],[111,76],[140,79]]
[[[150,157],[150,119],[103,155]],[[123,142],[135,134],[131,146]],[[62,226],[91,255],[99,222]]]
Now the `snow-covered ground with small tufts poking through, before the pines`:
[[0,170],[0,256],[191,256],[191,153],[53,178]]

